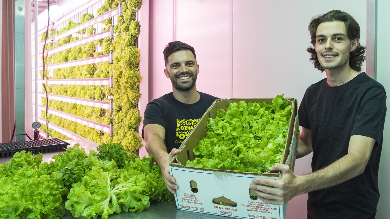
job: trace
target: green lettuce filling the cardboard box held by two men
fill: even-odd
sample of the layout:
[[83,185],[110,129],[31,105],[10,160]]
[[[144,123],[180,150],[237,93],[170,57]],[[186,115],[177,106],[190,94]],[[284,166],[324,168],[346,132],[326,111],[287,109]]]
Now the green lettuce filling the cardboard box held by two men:
[[264,173],[280,162],[291,118],[291,105],[283,95],[272,104],[231,103],[209,118],[207,135],[197,143],[197,157],[186,166]]

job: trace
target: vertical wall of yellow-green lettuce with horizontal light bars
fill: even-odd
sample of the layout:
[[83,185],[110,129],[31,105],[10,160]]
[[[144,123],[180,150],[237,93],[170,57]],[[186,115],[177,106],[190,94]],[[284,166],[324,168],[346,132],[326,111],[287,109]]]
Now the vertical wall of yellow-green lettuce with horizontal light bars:
[[48,118],[51,137],[120,142],[136,152],[141,146],[137,12],[142,1],[91,2],[100,7],[59,19],[62,23],[48,32],[45,85],[39,93],[41,133],[46,137]]

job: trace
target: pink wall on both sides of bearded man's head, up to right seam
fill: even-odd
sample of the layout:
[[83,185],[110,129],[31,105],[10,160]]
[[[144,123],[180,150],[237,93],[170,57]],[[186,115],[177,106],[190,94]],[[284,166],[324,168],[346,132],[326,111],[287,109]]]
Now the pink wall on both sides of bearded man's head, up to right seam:
[[[163,71],[163,49],[168,42],[175,40],[186,42],[195,48],[200,68],[198,90],[218,97],[231,97],[232,4],[225,4],[225,0],[215,0],[207,2],[207,7],[204,7],[197,2],[199,1],[150,1],[150,101],[172,91],[170,80]],[[218,63],[214,61],[216,58]]]

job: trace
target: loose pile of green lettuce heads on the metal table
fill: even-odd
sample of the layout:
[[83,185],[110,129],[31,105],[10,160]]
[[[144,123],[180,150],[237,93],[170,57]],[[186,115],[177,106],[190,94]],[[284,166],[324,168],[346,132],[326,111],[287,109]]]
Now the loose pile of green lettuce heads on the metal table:
[[142,211],[151,201],[173,200],[158,165],[140,159],[121,144],[109,143],[87,155],[78,145],[42,163],[42,154],[17,152],[0,165],[0,218],[102,219]]

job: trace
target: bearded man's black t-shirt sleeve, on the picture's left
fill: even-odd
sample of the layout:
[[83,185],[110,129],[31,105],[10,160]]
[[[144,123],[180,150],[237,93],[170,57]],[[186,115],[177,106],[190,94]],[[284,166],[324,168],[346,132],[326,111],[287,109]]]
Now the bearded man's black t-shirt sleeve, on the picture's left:
[[167,130],[167,121],[163,115],[163,109],[156,102],[149,102],[144,113],[144,126],[142,127],[142,138],[144,138],[144,127],[147,124],[157,124]]

